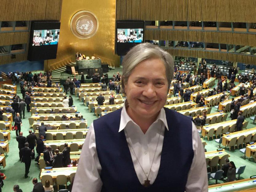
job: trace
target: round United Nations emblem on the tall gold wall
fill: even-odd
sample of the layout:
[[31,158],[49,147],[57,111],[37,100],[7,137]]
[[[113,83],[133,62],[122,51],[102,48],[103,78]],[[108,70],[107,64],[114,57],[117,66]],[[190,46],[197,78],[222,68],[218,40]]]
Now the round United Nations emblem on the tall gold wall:
[[90,11],[80,11],[72,17],[70,30],[77,38],[91,38],[98,30],[98,19]]

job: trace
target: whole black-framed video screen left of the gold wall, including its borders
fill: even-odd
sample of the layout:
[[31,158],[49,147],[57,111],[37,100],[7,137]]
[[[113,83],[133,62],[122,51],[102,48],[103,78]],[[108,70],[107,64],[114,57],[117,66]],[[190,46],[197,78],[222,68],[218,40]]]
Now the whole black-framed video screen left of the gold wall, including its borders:
[[58,21],[33,21],[30,30],[28,60],[56,59],[60,33]]

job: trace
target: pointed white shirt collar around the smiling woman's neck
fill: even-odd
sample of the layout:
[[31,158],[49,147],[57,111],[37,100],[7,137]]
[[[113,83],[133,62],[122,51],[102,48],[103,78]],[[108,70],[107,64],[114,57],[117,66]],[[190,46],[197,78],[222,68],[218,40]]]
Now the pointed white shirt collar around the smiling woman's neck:
[[[121,111],[121,119],[120,119],[120,126],[119,126],[119,130],[118,132],[121,132],[122,130],[124,130],[124,128],[126,127],[126,125],[128,124],[128,122],[133,122],[134,124],[136,124],[132,118],[130,118],[130,116],[128,115],[127,111],[126,111],[126,104],[127,104],[127,101],[124,102],[124,106],[122,107],[122,111]],[[166,114],[165,114],[165,110],[164,108],[162,108],[160,110],[160,113],[159,115],[157,116],[156,118],[156,121],[157,122],[158,120],[161,120],[166,129],[169,130],[168,128],[168,124],[167,124],[167,120],[166,120]]]

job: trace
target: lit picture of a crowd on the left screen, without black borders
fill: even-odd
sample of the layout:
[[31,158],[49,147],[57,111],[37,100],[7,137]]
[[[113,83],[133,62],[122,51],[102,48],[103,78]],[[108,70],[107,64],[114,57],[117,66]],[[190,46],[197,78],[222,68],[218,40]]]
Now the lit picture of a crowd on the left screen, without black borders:
[[33,46],[57,45],[60,30],[34,30]]

